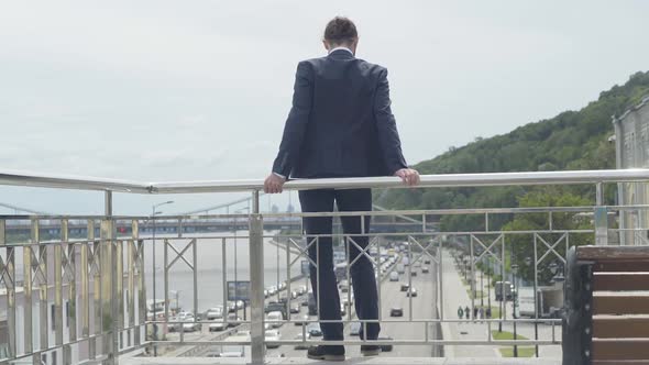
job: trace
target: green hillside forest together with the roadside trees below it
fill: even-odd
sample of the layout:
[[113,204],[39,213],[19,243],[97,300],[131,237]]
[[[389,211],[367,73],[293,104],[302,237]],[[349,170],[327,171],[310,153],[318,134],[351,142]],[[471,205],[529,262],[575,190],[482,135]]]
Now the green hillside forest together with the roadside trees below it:
[[[600,93],[596,101],[579,111],[565,111],[559,115],[528,123],[514,131],[488,139],[476,137],[461,147],[450,147],[446,153],[414,167],[421,174],[470,174],[505,172],[542,172],[615,168],[615,145],[608,139],[614,134],[612,115],[620,115],[649,95],[649,73],[637,73],[622,86],[614,86]],[[497,122],[497,121],[487,121]],[[604,186],[606,204],[616,203],[616,185]],[[480,188],[388,189],[375,195],[375,202],[391,209],[457,209],[504,207],[566,207],[592,206],[595,202],[593,185],[573,186],[516,186]],[[439,220],[442,232],[482,231],[484,214],[448,214],[431,217]],[[548,214],[490,214],[490,230],[548,229]],[[554,229],[592,228],[588,218],[575,219],[574,214],[557,213],[552,217]],[[553,244],[560,235],[542,237]],[[519,267],[519,275],[530,279],[534,265],[525,265],[525,258],[534,258],[534,235],[506,235],[505,267],[510,257]],[[570,236],[570,244],[592,243],[592,234]],[[466,247],[468,242],[457,242]],[[564,244],[559,244],[564,253]],[[499,254],[498,254],[499,255]],[[539,265],[541,283],[547,283],[550,270],[544,268],[552,255]],[[494,280],[496,278],[494,277]]]

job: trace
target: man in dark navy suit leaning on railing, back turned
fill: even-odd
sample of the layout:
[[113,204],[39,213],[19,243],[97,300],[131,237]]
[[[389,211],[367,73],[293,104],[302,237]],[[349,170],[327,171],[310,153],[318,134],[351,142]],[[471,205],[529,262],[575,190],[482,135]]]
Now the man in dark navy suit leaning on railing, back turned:
[[[328,178],[398,176],[405,184],[419,182],[419,174],[408,168],[402,154],[395,118],[391,110],[387,70],[355,58],[359,36],[346,18],[334,18],[324,30],[328,56],[300,62],[297,66],[293,108],[288,114],[279,153],[264,191],[282,192],[287,178]],[[370,189],[320,189],[299,191],[302,212],[371,211]],[[361,320],[378,318],[376,279],[372,262],[362,253],[369,240],[370,217],[342,217],[348,259]],[[364,228],[361,225],[364,223]],[[340,298],[333,272],[332,218],[304,219],[309,256],[311,286],[320,302],[320,320],[340,320]],[[329,235],[329,236],[323,236]],[[319,278],[319,283],[318,283]],[[324,340],[343,339],[342,323],[321,323]],[[376,340],[378,322],[365,322],[361,339]],[[362,345],[365,356],[376,355],[381,347]],[[344,360],[344,346],[309,349],[310,358]]]

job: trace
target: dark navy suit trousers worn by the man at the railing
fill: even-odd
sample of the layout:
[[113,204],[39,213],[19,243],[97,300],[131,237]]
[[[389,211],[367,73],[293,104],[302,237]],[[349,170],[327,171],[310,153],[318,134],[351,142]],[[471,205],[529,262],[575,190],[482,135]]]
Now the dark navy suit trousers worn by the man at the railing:
[[[371,211],[372,210],[372,190],[370,189],[350,189],[350,190],[304,190],[299,191],[299,201],[302,212],[332,212],[336,202],[338,210],[344,211]],[[332,232],[332,217],[305,217],[304,226],[307,233],[307,244],[310,243],[316,234],[330,235]],[[360,234],[361,217],[341,217],[342,229],[345,234]],[[370,232],[370,217],[364,218],[364,232]],[[345,237],[345,252],[348,253],[350,266],[350,276],[354,290],[354,307],[356,316],[362,320],[378,319],[378,296],[376,291],[376,279],[374,277],[374,266],[367,256],[362,255],[362,250],[367,246],[369,239],[366,235],[350,236],[348,242]],[[359,247],[361,250],[359,250]],[[366,252],[370,255],[369,252]],[[333,247],[331,236],[320,236],[317,243],[309,247],[309,256],[318,264],[318,267],[310,265],[311,286],[316,300],[320,300],[320,320],[340,320],[340,297],[338,294],[338,284],[333,272]],[[358,258],[358,259],[356,259]],[[318,279],[319,292],[318,292]],[[317,301],[316,301],[317,302]],[[349,309],[348,309],[349,310]],[[342,323],[321,323],[324,340],[342,340]],[[361,327],[361,339],[376,340],[381,327],[378,322],[367,323],[366,332]]]

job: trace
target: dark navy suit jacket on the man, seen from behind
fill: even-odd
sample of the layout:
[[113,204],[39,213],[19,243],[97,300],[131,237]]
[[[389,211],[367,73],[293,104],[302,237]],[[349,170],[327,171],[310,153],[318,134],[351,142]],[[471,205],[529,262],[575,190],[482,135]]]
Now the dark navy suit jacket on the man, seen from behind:
[[293,178],[386,176],[406,166],[387,69],[345,49],[298,64],[274,173]]

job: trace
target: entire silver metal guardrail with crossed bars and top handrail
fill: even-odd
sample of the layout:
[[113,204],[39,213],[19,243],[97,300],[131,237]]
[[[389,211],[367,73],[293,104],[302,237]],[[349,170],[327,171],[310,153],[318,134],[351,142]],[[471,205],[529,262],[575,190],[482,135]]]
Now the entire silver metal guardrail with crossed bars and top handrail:
[[[402,211],[373,211],[373,212],[334,212],[334,213],[260,213],[260,190],[262,189],[261,180],[250,181],[189,181],[189,182],[147,182],[141,184],[135,181],[97,179],[74,176],[44,175],[21,172],[0,172],[0,185],[11,186],[30,186],[43,188],[64,188],[77,190],[98,190],[105,192],[105,214],[99,217],[75,217],[75,215],[0,215],[0,250],[2,250],[3,262],[0,267],[2,283],[7,290],[7,309],[8,309],[8,356],[0,362],[7,363],[13,360],[32,358],[33,361],[53,351],[62,350],[64,363],[70,363],[74,358],[73,351],[81,343],[87,344],[88,357],[100,358],[106,363],[117,363],[120,354],[124,354],[143,346],[157,349],[161,345],[191,345],[191,344],[223,344],[233,342],[222,341],[193,341],[185,339],[185,332],[179,332],[178,341],[163,341],[160,339],[145,339],[147,329],[154,325],[163,328],[169,324],[184,323],[174,321],[165,306],[165,314],[162,319],[147,319],[146,317],[146,298],[151,292],[146,285],[146,275],[156,276],[157,267],[153,264],[153,269],[147,273],[145,268],[145,248],[146,245],[155,247],[164,244],[164,268],[163,284],[165,303],[169,302],[168,276],[173,273],[174,267],[185,264],[193,273],[194,287],[194,313],[198,313],[198,242],[200,240],[220,240],[222,250],[223,267],[228,266],[226,259],[227,244],[234,240],[243,240],[249,251],[250,267],[250,320],[238,321],[250,325],[250,340],[235,342],[251,345],[252,362],[263,363],[265,358],[265,346],[267,344],[298,344],[302,341],[274,341],[268,342],[264,339],[264,323],[271,321],[264,320],[264,248],[267,241],[277,240],[277,246],[284,245],[286,253],[287,277],[290,277],[292,267],[295,267],[297,259],[306,257],[304,235],[299,234],[273,234],[264,233],[264,217],[344,217],[361,215],[364,219],[377,219],[377,217],[411,217],[417,218],[422,224],[420,231],[410,232],[391,232],[375,233],[364,232],[370,235],[373,243],[370,247],[380,248],[382,245],[387,247],[394,245],[395,241],[405,241],[408,257],[419,255],[419,258],[428,257],[431,265],[436,265],[433,270],[437,275],[436,298],[439,313],[428,318],[413,318],[413,297],[409,297],[409,318],[402,322],[420,323],[425,328],[425,334],[418,340],[378,341],[378,344],[419,344],[419,345],[550,345],[558,344],[560,340],[554,335],[553,325],[559,322],[558,319],[541,319],[538,313],[538,305],[535,305],[534,318],[507,319],[507,303],[501,301],[501,318],[484,319],[482,322],[487,329],[487,335],[483,340],[457,340],[440,339],[438,335],[431,338],[429,333],[430,325],[451,325],[452,323],[465,323],[459,319],[451,319],[444,313],[444,289],[442,266],[444,265],[444,255],[452,255],[459,264],[458,270],[462,270],[468,278],[470,288],[473,292],[470,295],[471,312],[479,307],[475,302],[475,292],[480,291],[483,296],[484,286],[476,290],[477,266],[482,266],[481,273],[494,273],[496,267],[501,276],[505,277],[510,269],[510,263],[505,257],[506,240],[514,236],[531,237],[529,242],[534,245],[534,252],[537,253],[540,247],[544,248],[541,257],[536,256],[534,265],[528,269],[534,270],[535,276],[535,303],[538,302],[538,291],[536,287],[539,277],[539,266],[544,265],[543,261],[548,257],[556,257],[556,261],[562,265],[565,263],[564,252],[570,246],[572,236],[588,237],[591,243],[605,245],[608,244],[609,233],[617,234],[625,230],[608,226],[608,213],[628,210],[646,210],[647,207],[623,207],[623,206],[604,206],[603,184],[623,182],[623,181],[647,181],[649,180],[649,169],[634,170],[596,170],[596,172],[543,172],[543,173],[507,173],[507,174],[466,174],[466,175],[427,175],[421,177],[420,188],[437,187],[479,187],[479,186],[516,186],[516,185],[562,185],[562,184],[592,184],[596,189],[596,202],[592,207],[538,207],[538,208],[475,208],[475,209],[433,209],[433,210],[402,210]],[[398,178],[394,177],[375,177],[375,178],[340,178],[340,179],[317,179],[317,180],[296,180],[285,185],[286,190],[299,189],[319,189],[319,188],[403,188]],[[252,195],[252,210],[249,214],[211,214],[211,215],[165,215],[156,217],[117,217],[113,215],[113,192],[128,193],[197,193],[197,192],[232,192],[249,191]],[[490,229],[490,219],[498,214],[538,214],[543,213],[547,217],[547,228],[534,231],[499,231]],[[592,214],[592,225],[587,229],[562,229],[553,225],[556,214],[580,213]],[[472,214],[481,215],[484,221],[480,229],[466,229],[462,232],[430,232],[427,229],[426,220],[432,215],[449,214]],[[177,220],[180,230],[175,237],[148,237],[140,234],[140,229],[155,222],[157,219]],[[191,234],[185,233],[182,229],[184,223],[190,220],[200,219],[245,219],[249,223],[249,234],[232,239],[226,235],[207,235],[202,237],[193,237]],[[8,240],[8,232],[11,230],[11,221],[30,221],[30,237],[19,237],[14,241]],[[43,220],[58,221],[61,226],[61,237],[56,240],[44,241],[41,236],[40,223]],[[88,224],[87,236],[70,237],[67,225],[70,220],[85,220]],[[123,222],[129,222],[131,230],[128,235],[117,232],[118,223],[122,226]],[[99,229],[99,237],[95,236],[96,230]],[[638,228],[637,231],[641,230]],[[342,239],[342,234],[330,235],[333,239]],[[550,239],[553,237],[553,239]],[[317,239],[317,237],[316,237]],[[344,240],[353,240],[353,235],[346,235]],[[183,242],[183,247],[176,247],[174,242]],[[318,245],[318,240],[316,240]],[[235,243],[241,245],[241,243]],[[564,247],[564,248],[559,248]],[[185,256],[191,252],[191,258]],[[293,253],[293,259],[290,258]],[[155,257],[155,254],[152,258]],[[297,257],[297,258],[296,258]],[[466,257],[466,258],[464,258]],[[487,257],[490,257],[487,259]],[[308,258],[305,258],[308,259]],[[375,259],[375,258],[373,258]],[[377,259],[377,258],[376,258]],[[485,261],[488,263],[485,264]],[[52,265],[53,263],[53,265]],[[317,264],[317,263],[316,263]],[[374,263],[377,267],[378,263]],[[486,265],[486,266],[484,266]],[[16,267],[19,268],[16,270]],[[409,266],[410,270],[413,266]],[[485,267],[487,267],[485,269]],[[22,270],[20,269],[22,268]],[[124,270],[124,268],[127,268]],[[382,278],[387,277],[393,267],[385,272],[380,272]],[[24,285],[18,287],[15,283],[20,279],[16,272],[22,272]],[[469,274],[471,273],[471,274]],[[408,280],[413,276],[407,275]],[[124,277],[124,280],[118,278]],[[346,274],[349,276],[349,273]],[[471,278],[469,278],[471,275]],[[491,281],[491,280],[490,280]],[[503,279],[503,281],[505,281]],[[516,283],[516,280],[513,280]],[[160,283],[153,279],[152,283]],[[411,285],[411,281],[409,281]],[[53,287],[52,287],[53,286]],[[125,286],[125,289],[124,289]],[[67,287],[67,291],[64,288]],[[502,286],[504,287],[504,286]],[[155,291],[156,286],[153,286]],[[380,286],[381,288],[381,286]],[[36,289],[38,298],[38,316],[31,313],[31,306],[24,307],[23,323],[16,323],[16,295],[23,296],[24,300],[33,300],[33,290]],[[224,289],[224,287],[223,287]],[[316,288],[317,290],[317,288]],[[502,289],[504,296],[505,289]],[[50,298],[54,299],[54,307],[50,309]],[[64,298],[68,301],[64,308]],[[155,298],[155,295],[153,296]],[[223,292],[223,298],[226,292]],[[79,302],[77,302],[77,298]],[[119,300],[117,298],[124,298]],[[488,297],[491,298],[491,297]],[[290,303],[290,299],[288,299]],[[490,307],[491,308],[491,307]],[[65,310],[65,312],[64,312]],[[65,313],[65,316],[64,316]],[[32,316],[37,318],[37,322],[51,325],[40,325],[37,336],[32,333],[34,322]],[[80,318],[78,318],[80,317]],[[380,318],[381,322],[399,322],[399,320],[385,320]],[[535,340],[507,341],[494,340],[491,333],[492,327],[502,328],[503,324],[516,325],[516,323],[532,323],[535,329],[543,321],[552,324],[552,336],[543,340],[537,336]],[[316,321],[316,320],[314,320]],[[346,319],[343,322],[354,321],[351,311],[348,311]],[[477,321],[472,318],[471,321]],[[65,322],[65,324],[64,324]],[[79,324],[77,324],[79,322]],[[195,319],[193,322],[198,324],[208,324],[209,321]],[[288,323],[295,320],[288,320]],[[369,322],[369,321],[364,321]],[[305,322],[302,328],[306,327]],[[363,324],[365,325],[365,324]],[[51,334],[48,328],[54,328]],[[22,331],[22,333],[21,333]],[[516,329],[514,329],[516,331]],[[304,332],[304,330],[302,330]],[[19,341],[19,334],[20,340]],[[65,334],[65,335],[64,335]],[[35,340],[35,341],[34,341]],[[19,345],[20,343],[20,345]],[[318,344],[321,341],[309,341]],[[333,343],[333,342],[327,342]],[[344,341],[342,344],[361,344],[365,341]],[[537,350],[538,352],[538,350]]]

